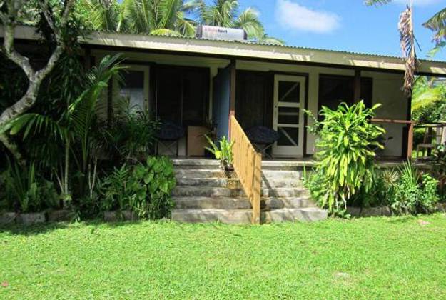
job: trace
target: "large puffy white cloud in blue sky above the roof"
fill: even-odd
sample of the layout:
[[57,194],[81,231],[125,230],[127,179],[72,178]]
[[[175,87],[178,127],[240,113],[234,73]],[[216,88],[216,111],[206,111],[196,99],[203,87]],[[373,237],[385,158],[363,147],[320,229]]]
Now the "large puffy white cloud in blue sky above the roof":
[[278,0],[275,19],[285,29],[328,33],[340,26],[340,17],[329,11],[317,11],[290,0]]

